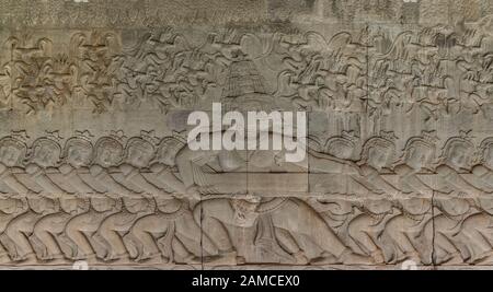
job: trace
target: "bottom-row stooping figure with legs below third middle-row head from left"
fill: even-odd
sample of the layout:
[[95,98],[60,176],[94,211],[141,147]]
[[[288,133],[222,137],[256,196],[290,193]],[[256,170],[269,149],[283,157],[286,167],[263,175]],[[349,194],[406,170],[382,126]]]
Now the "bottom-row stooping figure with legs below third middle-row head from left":
[[92,241],[92,236],[108,215],[122,210],[122,205],[121,199],[91,198],[89,211],[71,218],[65,226],[66,244],[69,246],[69,250],[66,253],[67,258],[96,262],[96,250],[101,249],[101,245]]

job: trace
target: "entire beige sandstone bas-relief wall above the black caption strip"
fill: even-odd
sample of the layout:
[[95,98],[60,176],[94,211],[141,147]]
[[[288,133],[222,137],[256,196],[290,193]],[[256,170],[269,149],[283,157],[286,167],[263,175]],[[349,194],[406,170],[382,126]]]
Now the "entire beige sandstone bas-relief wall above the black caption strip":
[[[492,266],[493,5],[444,3],[0,0],[0,267]],[[306,161],[192,151],[214,103]]]

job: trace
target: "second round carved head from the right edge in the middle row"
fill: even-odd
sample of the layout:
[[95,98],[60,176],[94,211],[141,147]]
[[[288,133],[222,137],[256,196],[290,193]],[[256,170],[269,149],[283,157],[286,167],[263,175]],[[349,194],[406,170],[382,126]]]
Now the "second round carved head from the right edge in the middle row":
[[444,148],[445,164],[455,170],[469,170],[474,159],[474,145],[462,138],[452,138]]

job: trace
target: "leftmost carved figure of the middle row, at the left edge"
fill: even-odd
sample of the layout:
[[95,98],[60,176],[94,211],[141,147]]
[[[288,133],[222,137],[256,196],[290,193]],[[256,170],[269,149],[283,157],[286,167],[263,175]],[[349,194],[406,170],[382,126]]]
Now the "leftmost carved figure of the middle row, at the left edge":
[[20,167],[23,166],[26,154],[27,145],[22,141],[11,137],[0,140],[0,180],[20,195],[32,192],[15,177],[15,173],[23,172]]

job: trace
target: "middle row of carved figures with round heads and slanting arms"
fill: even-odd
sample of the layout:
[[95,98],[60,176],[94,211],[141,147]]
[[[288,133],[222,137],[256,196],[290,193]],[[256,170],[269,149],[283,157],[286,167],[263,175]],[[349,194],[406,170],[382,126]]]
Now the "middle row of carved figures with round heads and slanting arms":
[[[284,151],[192,151],[179,136],[158,139],[142,132],[130,139],[117,135],[93,139],[88,135],[65,140],[53,132],[31,145],[23,141],[25,132],[0,139],[0,192],[197,198],[200,194],[244,194],[241,182],[237,191],[226,187],[241,174],[264,173],[274,182],[283,179],[278,178],[282,174],[306,174],[308,170],[307,190],[312,194],[365,198],[493,194],[493,139],[484,139],[477,148],[466,132],[448,139],[439,155],[437,140],[428,132],[409,139],[402,153],[389,132],[360,147],[346,136],[331,138],[323,145],[311,139],[307,159],[300,163],[285,162]],[[228,176],[234,174],[240,176]],[[289,189],[290,183],[282,185]]]

